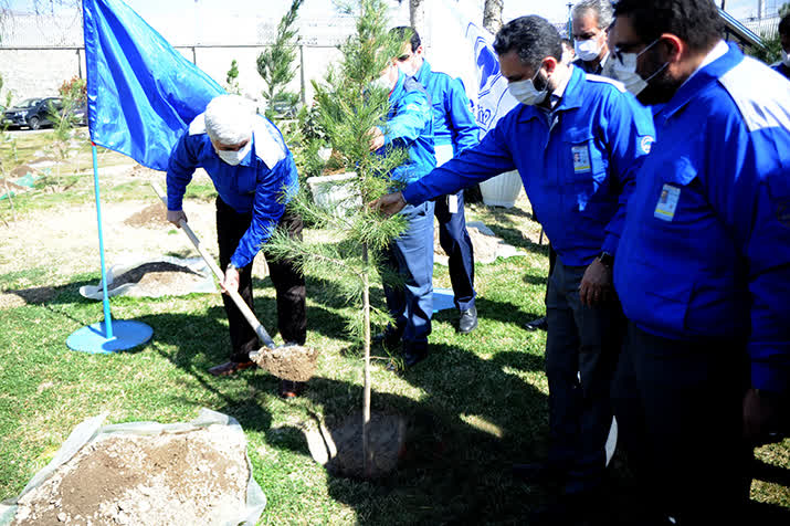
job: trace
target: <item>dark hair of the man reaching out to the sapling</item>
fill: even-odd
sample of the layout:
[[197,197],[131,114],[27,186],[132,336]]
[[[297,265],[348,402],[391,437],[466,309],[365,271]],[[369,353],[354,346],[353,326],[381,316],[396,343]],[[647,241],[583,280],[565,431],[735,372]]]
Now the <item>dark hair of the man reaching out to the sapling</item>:
[[522,63],[537,69],[544,59],[562,57],[562,43],[557,28],[546,19],[531,14],[510,20],[494,39],[494,51],[504,55],[515,51]]

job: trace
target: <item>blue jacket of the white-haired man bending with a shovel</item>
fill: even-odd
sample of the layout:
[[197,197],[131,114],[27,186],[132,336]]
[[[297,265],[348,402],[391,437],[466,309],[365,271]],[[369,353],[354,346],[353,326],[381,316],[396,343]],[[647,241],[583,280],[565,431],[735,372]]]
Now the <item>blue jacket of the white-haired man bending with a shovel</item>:
[[247,156],[238,166],[230,166],[214,151],[200,114],[172,149],[167,167],[168,210],[181,210],[194,169],[203,168],[222,201],[239,213],[252,213],[252,224],[231,256],[240,269],[252,262],[277,227],[285,204],[298,191],[296,165],[280,130],[259,115],[252,137]]

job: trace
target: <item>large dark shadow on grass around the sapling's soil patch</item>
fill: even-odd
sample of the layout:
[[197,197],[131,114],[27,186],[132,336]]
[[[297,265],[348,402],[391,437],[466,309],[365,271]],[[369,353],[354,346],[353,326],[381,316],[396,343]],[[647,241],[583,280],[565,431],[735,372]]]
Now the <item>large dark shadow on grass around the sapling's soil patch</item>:
[[[514,361],[519,360],[484,360],[439,345],[404,375],[425,396],[414,400],[373,389],[373,411],[407,420],[399,469],[367,482],[329,472],[331,497],[354,507],[361,524],[523,524],[544,495],[514,481],[510,464],[544,448],[547,403],[544,393],[503,370]],[[360,411],[362,388],[314,378],[305,397],[323,407],[331,429]],[[294,452],[310,454],[298,429],[287,436]]]

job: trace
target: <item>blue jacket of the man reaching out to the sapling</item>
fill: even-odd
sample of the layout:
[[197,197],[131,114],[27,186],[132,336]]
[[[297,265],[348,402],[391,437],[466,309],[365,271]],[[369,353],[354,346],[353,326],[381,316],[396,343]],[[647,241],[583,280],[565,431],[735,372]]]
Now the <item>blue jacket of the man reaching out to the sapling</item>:
[[518,169],[533,210],[566,265],[615,253],[634,161],[653,143],[650,111],[622,84],[578,67],[552,113],[517,105],[480,145],[409,185],[417,204]]

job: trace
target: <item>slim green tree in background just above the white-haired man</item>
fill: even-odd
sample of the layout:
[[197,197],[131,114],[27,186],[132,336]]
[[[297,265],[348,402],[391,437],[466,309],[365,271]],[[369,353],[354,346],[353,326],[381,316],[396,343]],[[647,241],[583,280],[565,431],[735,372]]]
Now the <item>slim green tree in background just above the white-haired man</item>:
[[296,17],[304,0],[293,0],[288,12],[283,15],[277,24],[277,35],[274,43],[263,53],[257,55],[257,73],[266,83],[263,97],[266,99],[266,117],[274,116],[274,103],[280,101],[285,93],[285,86],[296,76],[296,44],[298,43],[295,28]]

